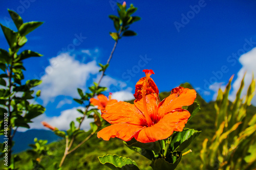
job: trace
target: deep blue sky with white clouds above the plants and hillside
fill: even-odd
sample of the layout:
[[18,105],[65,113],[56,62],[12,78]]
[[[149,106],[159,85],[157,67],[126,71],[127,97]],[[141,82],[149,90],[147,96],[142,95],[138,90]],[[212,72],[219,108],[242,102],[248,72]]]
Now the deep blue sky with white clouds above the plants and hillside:
[[[11,29],[15,26],[8,19],[7,8],[24,21],[44,21],[27,36],[24,47],[44,55],[24,62],[26,79],[43,80],[38,87],[42,90],[38,103],[47,111],[37,122],[47,119],[65,129],[55,122],[78,115],[74,112],[79,105],[72,101],[78,95],[76,88],[86,90],[97,80],[97,63],[108,60],[114,45],[109,32],[115,29],[108,15],[117,15],[116,2],[123,1],[0,3],[0,22]],[[120,39],[102,82],[117,99],[132,98],[136,82],[144,76],[143,69],[154,70],[152,78],[160,91],[189,82],[206,101],[214,99],[217,88],[223,88],[233,74],[231,100],[245,71],[249,83],[256,66],[256,50],[252,50],[256,46],[256,1],[126,3],[138,7],[135,15],[142,20],[131,26],[137,36]],[[0,46],[8,49],[2,31]],[[255,98],[253,102],[256,104]]]

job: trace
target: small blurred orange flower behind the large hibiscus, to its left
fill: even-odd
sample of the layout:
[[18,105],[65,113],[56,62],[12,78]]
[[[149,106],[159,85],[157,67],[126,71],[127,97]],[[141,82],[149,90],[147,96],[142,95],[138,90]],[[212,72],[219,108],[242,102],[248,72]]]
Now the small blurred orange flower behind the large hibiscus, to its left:
[[105,107],[108,106],[108,105],[112,105],[114,103],[117,103],[117,100],[111,99],[111,93],[109,95],[109,99],[103,94],[99,94],[97,97],[98,97],[98,100],[94,99],[94,98],[91,98],[90,102],[91,102],[92,105],[98,106],[99,110],[105,109]]

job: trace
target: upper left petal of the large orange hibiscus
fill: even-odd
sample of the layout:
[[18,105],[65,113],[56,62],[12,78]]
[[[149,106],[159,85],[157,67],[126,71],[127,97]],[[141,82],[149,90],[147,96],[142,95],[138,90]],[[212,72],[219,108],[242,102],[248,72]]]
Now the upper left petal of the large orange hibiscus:
[[146,126],[143,114],[135,105],[127,102],[120,101],[113,105],[108,105],[105,110],[101,110],[101,113],[101,117],[110,124],[129,123]]

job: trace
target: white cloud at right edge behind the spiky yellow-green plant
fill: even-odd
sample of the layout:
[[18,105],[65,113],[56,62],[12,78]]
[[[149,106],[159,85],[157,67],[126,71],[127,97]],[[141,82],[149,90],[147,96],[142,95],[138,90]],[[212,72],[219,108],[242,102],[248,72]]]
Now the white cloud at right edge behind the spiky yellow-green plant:
[[[238,72],[238,78],[232,84],[233,91],[231,92],[231,95],[230,95],[230,100],[232,100],[232,101],[236,98],[236,93],[240,87],[240,84],[244,77],[245,72],[246,72],[246,75],[245,75],[245,79],[244,79],[244,89],[241,94],[242,96],[247,93],[247,89],[252,80],[252,75],[253,75],[253,73],[254,74],[256,73],[256,47],[252,48],[252,50],[249,51],[248,53],[243,54],[239,58],[239,61],[242,64],[242,68]],[[252,99],[251,103],[254,106],[256,106],[256,97],[255,96]]]

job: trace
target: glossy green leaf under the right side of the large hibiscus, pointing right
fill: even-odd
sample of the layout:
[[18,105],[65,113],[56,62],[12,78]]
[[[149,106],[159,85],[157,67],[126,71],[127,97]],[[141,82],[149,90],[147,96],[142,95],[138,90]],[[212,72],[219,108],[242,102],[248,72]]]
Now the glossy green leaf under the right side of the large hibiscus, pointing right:
[[201,131],[194,129],[183,129],[182,132],[176,132],[170,142],[170,146],[173,150],[183,151],[200,133]]

